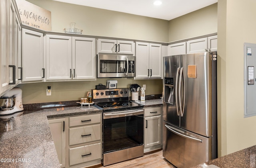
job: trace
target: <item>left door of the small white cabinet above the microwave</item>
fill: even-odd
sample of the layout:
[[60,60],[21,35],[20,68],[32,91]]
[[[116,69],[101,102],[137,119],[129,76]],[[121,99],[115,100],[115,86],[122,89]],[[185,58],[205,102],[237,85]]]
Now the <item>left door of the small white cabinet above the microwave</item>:
[[116,40],[98,39],[98,53],[116,53]]

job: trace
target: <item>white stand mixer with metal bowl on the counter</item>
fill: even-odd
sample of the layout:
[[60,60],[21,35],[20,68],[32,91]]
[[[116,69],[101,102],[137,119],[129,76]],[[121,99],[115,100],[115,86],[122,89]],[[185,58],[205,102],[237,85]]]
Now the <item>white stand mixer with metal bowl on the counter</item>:
[[23,114],[22,90],[13,88],[0,97],[0,119],[9,119]]

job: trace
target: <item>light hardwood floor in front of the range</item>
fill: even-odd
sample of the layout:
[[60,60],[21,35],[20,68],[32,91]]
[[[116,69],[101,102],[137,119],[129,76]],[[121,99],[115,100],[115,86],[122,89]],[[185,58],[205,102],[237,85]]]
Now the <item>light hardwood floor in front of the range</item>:
[[164,159],[163,150],[157,150],[156,152],[144,154],[144,156],[139,158],[126,160],[109,166],[102,166],[100,164],[91,166],[90,168],[175,168],[175,166]]

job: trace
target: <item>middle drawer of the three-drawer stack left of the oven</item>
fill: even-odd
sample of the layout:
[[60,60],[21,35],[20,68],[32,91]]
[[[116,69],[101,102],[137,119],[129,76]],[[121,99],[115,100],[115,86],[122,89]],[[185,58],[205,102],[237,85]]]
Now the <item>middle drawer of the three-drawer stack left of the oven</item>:
[[69,129],[69,145],[77,145],[101,139],[101,125],[90,125]]

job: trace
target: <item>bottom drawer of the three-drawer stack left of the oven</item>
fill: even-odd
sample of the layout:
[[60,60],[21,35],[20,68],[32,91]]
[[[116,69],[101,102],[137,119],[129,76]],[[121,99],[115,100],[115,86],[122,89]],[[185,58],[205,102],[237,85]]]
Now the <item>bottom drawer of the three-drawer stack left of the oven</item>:
[[69,149],[69,165],[101,159],[101,143]]

